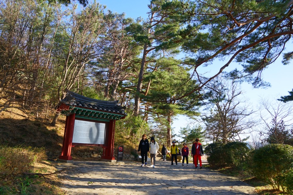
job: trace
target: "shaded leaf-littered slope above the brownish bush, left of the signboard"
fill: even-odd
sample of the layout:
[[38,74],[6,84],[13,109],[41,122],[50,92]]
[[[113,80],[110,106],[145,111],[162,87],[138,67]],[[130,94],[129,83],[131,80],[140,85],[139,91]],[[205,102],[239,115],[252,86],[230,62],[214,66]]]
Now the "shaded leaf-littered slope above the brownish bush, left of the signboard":
[[0,142],[12,147],[44,147],[46,152],[61,151],[64,126],[64,116],[60,116],[56,127],[51,127],[49,121],[27,119],[15,108],[10,108],[0,113]]

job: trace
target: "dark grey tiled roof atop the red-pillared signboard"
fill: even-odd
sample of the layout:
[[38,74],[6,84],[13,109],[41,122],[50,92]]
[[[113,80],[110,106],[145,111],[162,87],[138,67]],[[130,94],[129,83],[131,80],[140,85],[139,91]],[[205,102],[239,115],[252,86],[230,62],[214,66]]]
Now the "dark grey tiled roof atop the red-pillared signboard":
[[118,105],[117,101],[103,101],[96,100],[92,98],[87,98],[83,95],[74,93],[72,91],[66,91],[66,97],[61,100],[61,103],[69,105],[69,106],[78,106],[84,107],[88,109],[94,109],[98,111],[112,112],[118,114],[127,115],[124,111],[126,107],[122,107]]

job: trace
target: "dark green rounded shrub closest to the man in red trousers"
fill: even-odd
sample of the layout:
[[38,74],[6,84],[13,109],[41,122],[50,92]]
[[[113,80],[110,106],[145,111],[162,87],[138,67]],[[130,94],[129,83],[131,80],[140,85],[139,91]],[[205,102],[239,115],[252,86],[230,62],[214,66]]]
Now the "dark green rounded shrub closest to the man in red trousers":
[[207,162],[212,166],[224,166],[225,161],[223,157],[223,147],[225,144],[221,142],[215,142],[208,144],[204,148],[204,153],[208,156]]

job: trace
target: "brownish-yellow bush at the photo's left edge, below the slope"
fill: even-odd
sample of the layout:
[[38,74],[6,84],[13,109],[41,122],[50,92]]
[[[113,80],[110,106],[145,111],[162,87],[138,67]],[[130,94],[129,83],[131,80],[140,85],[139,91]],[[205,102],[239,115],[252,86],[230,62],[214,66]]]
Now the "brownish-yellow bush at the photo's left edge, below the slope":
[[29,172],[32,165],[43,157],[43,149],[0,147],[0,178]]

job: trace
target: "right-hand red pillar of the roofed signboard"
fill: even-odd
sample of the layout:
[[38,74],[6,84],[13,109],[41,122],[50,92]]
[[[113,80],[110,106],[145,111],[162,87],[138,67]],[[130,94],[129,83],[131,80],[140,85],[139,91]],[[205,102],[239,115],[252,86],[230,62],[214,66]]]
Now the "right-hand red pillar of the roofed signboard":
[[108,139],[105,144],[104,153],[102,159],[106,160],[115,160],[114,157],[114,134],[115,134],[115,120],[110,120],[109,122],[109,131],[108,131]]

